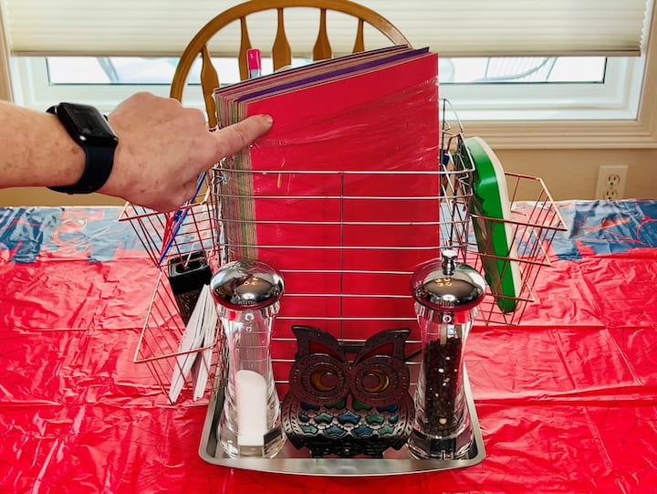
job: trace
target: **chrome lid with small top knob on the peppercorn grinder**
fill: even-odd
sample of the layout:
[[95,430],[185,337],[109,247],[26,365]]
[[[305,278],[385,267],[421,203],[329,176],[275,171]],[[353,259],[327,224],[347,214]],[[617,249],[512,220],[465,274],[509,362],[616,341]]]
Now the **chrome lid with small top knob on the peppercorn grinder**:
[[485,294],[485,280],[470,266],[456,262],[456,251],[443,250],[442,262],[433,261],[413,273],[413,299],[433,310],[457,312],[477,306]]

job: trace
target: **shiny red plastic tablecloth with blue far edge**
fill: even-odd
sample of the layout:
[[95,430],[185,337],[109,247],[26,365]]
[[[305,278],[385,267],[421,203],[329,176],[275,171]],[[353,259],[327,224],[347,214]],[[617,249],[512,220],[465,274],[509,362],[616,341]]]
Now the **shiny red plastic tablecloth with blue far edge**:
[[559,207],[522,325],[467,343],[485,460],[385,478],[205,463],[206,402],[132,363],[157,270],[119,209],[0,209],[0,493],[657,491],[657,205]]

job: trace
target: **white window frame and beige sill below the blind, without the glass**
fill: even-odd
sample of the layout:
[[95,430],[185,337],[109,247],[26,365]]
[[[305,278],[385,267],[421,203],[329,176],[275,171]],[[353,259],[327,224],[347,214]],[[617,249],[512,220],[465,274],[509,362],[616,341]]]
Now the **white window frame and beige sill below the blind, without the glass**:
[[[12,58],[11,68],[16,102],[36,110],[75,100],[108,112],[137,91],[169,95],[168,85],[50,85],[45,58]],[[467,135],[497,149],[657,148],[657,111],[647,104],[657,96],[655,79],[657,60],[609,58],[604,83],[445,84],[440,93]],[[203,109],[200,91],[189,88],[183,104]]]

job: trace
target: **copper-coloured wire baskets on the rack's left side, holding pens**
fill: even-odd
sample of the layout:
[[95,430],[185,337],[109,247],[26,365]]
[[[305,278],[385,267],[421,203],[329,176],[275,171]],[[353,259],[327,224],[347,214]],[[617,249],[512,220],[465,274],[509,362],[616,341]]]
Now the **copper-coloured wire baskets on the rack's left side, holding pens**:
[[[146,365],[162,397],[170,404],[175,400],[170,397],[172,378],[176,372],[183,371],[187,358],[194,358],[206,352],[212,352],[211,359],[198,359],[194,373],[184,377],[181,400],[193,399],[196,388],[195,376],[198,366],[214,382],[217,375],[224,374],[222,352],[222,334],[218,331],[214,342],[208,345],[183,351],[181,342],[186,323],[179,301],[168,281],[169,273],[176,267],[187,268],[194,262],[193,255],[201,253],[211,271],[219,266],[219,221],[217,207],[216,173],[207,173],[200,180],[198,193],[172,213],[155,213],[130,203],[123,206],[119,220],[127,221],[141,240],[141,244],[151,258],[151,269],[160,270],[151,302],[141,329],[141,335],[135,349],[133,362]],[[207,385],[203,392],[207,392]]]

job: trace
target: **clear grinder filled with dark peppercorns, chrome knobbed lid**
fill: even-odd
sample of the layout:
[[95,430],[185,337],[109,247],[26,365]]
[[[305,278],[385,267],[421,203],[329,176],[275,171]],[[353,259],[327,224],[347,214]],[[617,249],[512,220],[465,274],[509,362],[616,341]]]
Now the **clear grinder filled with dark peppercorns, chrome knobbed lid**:
[[458,459],[474,441],[464,393],[464,344],[484,298],[485,280],[445,249],[413,273],[412,296],[422,331],[422,364],[415,391],[409,450],[414,457]]

